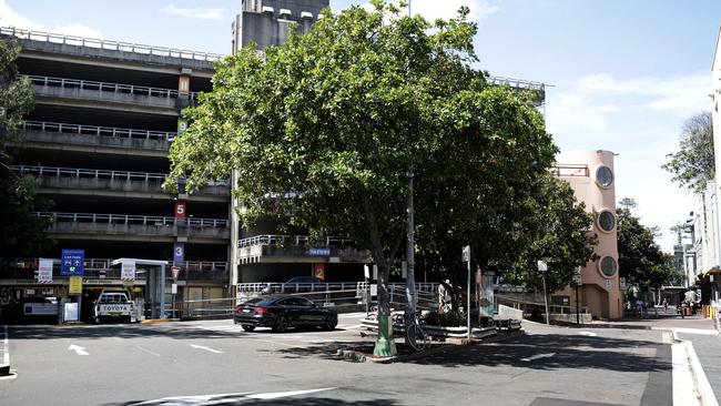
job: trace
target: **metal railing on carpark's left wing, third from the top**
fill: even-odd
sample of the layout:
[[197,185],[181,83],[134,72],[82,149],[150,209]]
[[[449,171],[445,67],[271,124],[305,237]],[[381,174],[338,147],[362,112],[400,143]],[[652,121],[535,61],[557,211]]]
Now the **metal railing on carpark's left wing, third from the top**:
[[120,129],[113,126],[97,126],[97,125],[82,125],[82,124],[65,124],[65,123],[53,123],[53,122],[45,122],[45,121],[24,121],[22,123],[22,128],[24,130],[60,132],[63,134],[100,135],[100,136],[138,139],[138,140],[173,141],[173,139],[177,136],[176,132],[133,130],[133,129]]

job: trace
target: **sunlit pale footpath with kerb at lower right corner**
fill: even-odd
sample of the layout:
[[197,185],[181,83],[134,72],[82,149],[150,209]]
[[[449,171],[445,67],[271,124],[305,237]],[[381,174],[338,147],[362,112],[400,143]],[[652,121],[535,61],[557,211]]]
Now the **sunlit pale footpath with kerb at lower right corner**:
[[[708,380],[707,396],[701,398],[702,406],[721,404],[721,336],[714,321],[701,316],[660,315],[658,318],[632,318],[617,322],[593,322],[593,326],[613,328],[638,328],[674,332],[676,337],[690,343],[698,357],[701,371],[694,371],[700,382]],[[701,385],[703,386],[703,385]],[[703,392],[703,387],[699,388]],[[712,392],[712,393],[709,393]],[[715,398],[715,403],[713,402]]]

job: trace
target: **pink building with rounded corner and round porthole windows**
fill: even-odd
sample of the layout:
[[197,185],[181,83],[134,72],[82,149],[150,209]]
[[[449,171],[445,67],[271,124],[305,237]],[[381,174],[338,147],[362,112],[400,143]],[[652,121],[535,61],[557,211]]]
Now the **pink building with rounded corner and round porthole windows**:
[[[623,308],[618,276],[613,153],[602,150],[563,153],[557,161],[558,177],[573,187],[576,199],[596,217],[590,232],[598,235],[597,258],[581,268],[579,304],[595,318],[620,318]],[[575,306],[575,290],[568,287],[561,294],[573,296]]]

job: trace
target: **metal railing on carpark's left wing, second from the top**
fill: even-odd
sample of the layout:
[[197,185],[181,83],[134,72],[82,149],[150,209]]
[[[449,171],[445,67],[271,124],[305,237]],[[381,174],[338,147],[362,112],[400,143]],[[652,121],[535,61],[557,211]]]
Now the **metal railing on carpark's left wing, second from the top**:
[[[41,87],[95,90],[101,92],[146,95],[146,97],[164,98],[164,99],[177,99],[179,95],[185,94],[185,93],[180,93],[177,90],[172,90],[172,89],[149,88],[149,87],[134,85],[134,84],[122,84],[122,83],[110,83],[110,82],[97,82],[93,80],[37,77],[37,75],[28,75],[28,78],[30,79],[32,84],[41,85]],[[190,100],[195,100],[197,98],[197,93],[187,92],[187,97]]]

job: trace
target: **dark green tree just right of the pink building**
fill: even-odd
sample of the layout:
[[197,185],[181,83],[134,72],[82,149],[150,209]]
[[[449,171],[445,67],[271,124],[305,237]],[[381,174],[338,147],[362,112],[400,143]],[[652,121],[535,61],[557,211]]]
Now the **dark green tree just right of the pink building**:
[[673,256],[661,251],[656,243],[658,227],[648,227],[633,213],[637,203],[623,199],[616,211],[618,217],[619,275],[629,284],[660,287],[680,282],[683,275],[673,266]]

